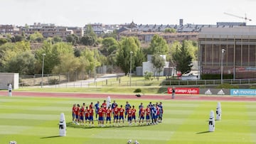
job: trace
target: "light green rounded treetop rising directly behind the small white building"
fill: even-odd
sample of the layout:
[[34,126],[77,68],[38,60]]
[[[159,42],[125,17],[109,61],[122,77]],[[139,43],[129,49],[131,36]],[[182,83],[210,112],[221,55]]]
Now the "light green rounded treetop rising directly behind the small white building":
[[154,35],[149,45],[148,54],[149,55],[154,55],[154,54],[166,55],[169,50],[168,47],[169,46],[166,43],[166,40],[164,40],[164,38],[162,38],[159,35]]

